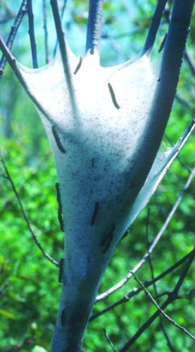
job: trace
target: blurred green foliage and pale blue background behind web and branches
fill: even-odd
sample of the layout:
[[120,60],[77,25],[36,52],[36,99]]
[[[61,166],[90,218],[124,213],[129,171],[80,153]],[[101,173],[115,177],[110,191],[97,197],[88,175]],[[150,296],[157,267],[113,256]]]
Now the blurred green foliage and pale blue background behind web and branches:
[[[37,41],[39,67],[54,57],[56,31],[51,15],[50,1],[34,0],[34,30]],[[64,1],[58,1],[61,11]],[[46,52],[44,31],[44,4],[48,31]],[[101,40],[101,65],[122,63],[139,54],[156,6],[156,0],[104,1]],[[170,2],[171,6],[171,2]],[[0,1],[0,34],[6,40],[20,7],[20,1]],[[77,56],[84,55],[88,1],[68,0],[63,14],[65,37]],[[168,13],[163,16],[152,60],[168,30]],[[195,18],[192,19],[187,51],[195,60]],[[12,54],[28,67],[32,67],[27,15],[20,25],[13,44]],[[141,83],[141,82],[140,82]],[[172,146],[182,136],[195,113],[194,74],[189,61],[184,60],[178,96],[172,109],[163,144]],[[39,116],[13,72],[6,65],[0,80],[0,139],[1,151],[23,201],[30,223],[46,252],[56,260],[63,256],[63,233],[57,217],[55,183],[57,182],[54,158]],[[194,166],[194,137],[191,136],[174,165],[158,187],[156,194],[132,225],[128,236],[116,249],[99,292],[124,278],[146,253],[149,243],[165,222],[172,206],[182,191],[189,172]],[[184,196],[177,213],[163,233],[153,251],[151,261],[154,276],[173,265],[189,253],[194,246],[194,182]],[[146,236],[147,235],[147,236]],[[58,268],[42,256],[27,229],[11,184],[4,177],[0,165],[0,351],[49,351],[56,322],[61,284]],[[148,243],[149,242],[149,243]],[[158,294],[171,291],[180,277],[182,267],[157,283]],[[151,268],[146,262],[139,270],[142,282],[151,279]],[[171,318],[195,334],[195,273],[188,272],[180,294],[182,299],[168,306]],[[139,287],[134,279],[106,300],[94,306],[94,313],[118,301]],[[153,287],[150,292],[156,296]],[[165,297],[161,298],[162,301]],[[160,301],[160,303],[162,302]],[[153,303],[141,294],[101,315],[89,323],[83,351],[112,351],[103,329],[113,341],[116,351],[156,311]],[[137,339],[130,351],[182,351],[195,350],[194,341],[163,319],[168,340],[158,319]]]

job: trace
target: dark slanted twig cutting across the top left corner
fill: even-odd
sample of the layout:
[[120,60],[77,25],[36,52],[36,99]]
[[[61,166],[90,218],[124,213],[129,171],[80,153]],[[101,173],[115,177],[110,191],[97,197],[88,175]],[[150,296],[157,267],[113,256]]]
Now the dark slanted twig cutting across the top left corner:
[[[23,17],[25,15],[27,11],[27,0],[23,0],[20,8],[19,8],[19,11],[16,15],[16,18],[14,20],[14,23],[13,25],[11,26],[11,32],[9,33],[8,35],[8,39],[6,40],[6,46],[8,47],[9,50],[11,50],[12,48],[12,45],[13,45],[13,41],[15,39],[15,35],[18,31],[18,28],[20,27],[20,23],[22,22],[23,20]],[[1,56],[1,61],[0,61],[0,79],[4,73],[4,68],[6,66],[6,56],[4,56],[4,54]]]

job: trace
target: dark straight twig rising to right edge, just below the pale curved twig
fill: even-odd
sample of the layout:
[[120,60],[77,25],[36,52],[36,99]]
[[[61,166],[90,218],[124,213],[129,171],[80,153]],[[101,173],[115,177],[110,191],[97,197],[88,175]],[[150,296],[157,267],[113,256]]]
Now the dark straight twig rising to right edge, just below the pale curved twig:
[[[158,275],[157,277],[154,277],[153,279],[151,279],[150,281],[146,281],[144,282],[144,287],[150,287],[151,285],[153,285],[154,283],[158,282],[159,280],[163,279],[163,277],[167,276],[170,274],[170,272],[174,271],[175,269],[177,269],[180,265],[182,265],[190,256],[191,253],[193,253],[193,251],[190,251],[186,256],[184,256],[183,258],[181,258],[180,260],[178,260],[175,264],[173,264],[170,268],[168,268],[167,270],[165,270],[164,272],[162,272],[160,275]],[[137,296],[141,291],[143,291],[141,288],[139,289],[133,289],[133,291],[128,292],[127,294],[125,294],[125,296],[123,296],[122,298],[120,298],[118,301],[116,301],[115,303],[110,304],[109,306],[107,306],[106,308],[99,310],[99,312],[94,313],[91,317],[90,317],[90,321],[98,318],[100,315],[103,315],[105,313],[108,313],[110,310],[113,310],[115,307],[120,306],[121,304],[127,303],[128,301],[130,301],[130,299],[134,296]],[[168,291],[164,291],[163,294],[159,294],[158,297],[164,296],[164,295],[168,295],[170,294],[170,292]]]

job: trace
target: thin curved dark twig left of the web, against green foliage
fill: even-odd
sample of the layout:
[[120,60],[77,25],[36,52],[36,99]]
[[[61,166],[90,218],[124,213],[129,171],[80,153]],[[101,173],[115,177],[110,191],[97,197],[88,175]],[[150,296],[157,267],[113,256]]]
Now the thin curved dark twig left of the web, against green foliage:
[[51,261],[51,263],[53,263],[54,265],[58,266],[58,262],[57,262],[54,258],[52,258],[51,256],[49,256],[49,254],[46,253],[46,251],[44,251],[42,245],[41,245],[40,242],[39,242],[39,239],[37,238],[37,234],[35,234],[34,230],[32,229],[32,225],[30,225],[30,220],[29,220],[28,217],[27,217],[27,213],[26,213],[26,211],[25,211],[25,208],[24,208],[24,206],[23,206],[23,203],[22,203],[22,201],[21,201],[21,199],[20,199],[20,196],[19,196],[19,194],[18,194],[18,191],[17,191],[17,189],[16,189],[16,187],[15,187],[15,184],[14,184],[14,182],[13,182],[13,179],[12,179],[12,177],[11,177],[9,171],[8,171],[8,168],[7,168],[7,166],[6,166],[6,162],[4,161],[4,158],[3,158],[3,156],[1,155],[1,153],[0,153],[0,160],[1,160],[1,164],[3,165],[3,168],[4,168],[4,172],[5,172],[5,174],[6,174],[6,177],[7,177],[8,181],[9,181],[10,184],[11,184],[11,188],[12,188],[12,190],[13,190],[13,193],[15,194],[15,198],[16,198],[17,201],[18,201],[18,204],[19,204],[19,206],[20,206],[20,210],[21,210],[22,213],[23,213],[23,218],[25,219],[25,222],[26,222],[26,224],[27,224],[27,227],[28,227],[28,229],[30,230],[30,233],[32,234],[32,238],[34,239],[34,242],[37,244],[37,247],[40,249],[40,251],[42,251],[44,257],[47,258],[49,261]]

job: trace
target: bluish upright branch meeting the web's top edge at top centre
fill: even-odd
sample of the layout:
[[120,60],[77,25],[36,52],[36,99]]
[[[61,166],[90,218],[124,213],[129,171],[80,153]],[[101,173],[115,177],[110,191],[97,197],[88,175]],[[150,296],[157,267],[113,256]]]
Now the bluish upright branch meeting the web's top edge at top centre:
[[103,0],[89,0],[89,18],[87,23],[86,53],[99,51],[101,39],[101,16]]

